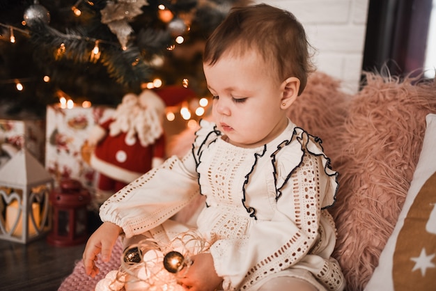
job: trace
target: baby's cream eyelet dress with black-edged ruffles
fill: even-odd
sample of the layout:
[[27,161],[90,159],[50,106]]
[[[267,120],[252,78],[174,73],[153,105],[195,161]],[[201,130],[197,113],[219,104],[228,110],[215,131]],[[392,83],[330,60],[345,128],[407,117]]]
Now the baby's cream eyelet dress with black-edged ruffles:
[[200,191],[206,207],[198,233],[211,243],[224,290],[258,290],[274,276],[343,290],[331,258],[336,229],[324,210],[334,204],[337,174],[320,140],[290,121],[258,148],[225,139],[203,120],[192,152],[169,158],[111,196],[100,208],[102,221],[121,226],[126,237],[151,230],[155,238],[171,239],[185,228],[167,220]]

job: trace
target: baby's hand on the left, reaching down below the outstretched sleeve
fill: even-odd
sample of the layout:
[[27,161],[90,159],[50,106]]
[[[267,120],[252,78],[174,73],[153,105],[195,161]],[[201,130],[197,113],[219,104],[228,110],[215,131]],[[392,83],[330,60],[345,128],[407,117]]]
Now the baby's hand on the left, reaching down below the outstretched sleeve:
[[118,235],[123,232],[123,229],[111,222],[104,222],[95,230],[93,235],[86,242],[84,250],[84,267],[87,275],[95,277],[99,269],[95,265],[97,255],[102,253],[103,262],[109,262],[111,258],[112,248],[118,238]]

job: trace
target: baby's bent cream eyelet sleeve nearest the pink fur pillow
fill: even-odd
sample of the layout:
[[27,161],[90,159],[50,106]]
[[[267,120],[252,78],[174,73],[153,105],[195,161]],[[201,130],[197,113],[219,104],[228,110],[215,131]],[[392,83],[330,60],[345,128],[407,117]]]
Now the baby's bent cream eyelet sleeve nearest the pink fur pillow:
[[[335,196],[337,183],[336,175],[325,172],[323,157],[311,152],[313,148],[306,147],[306,142],[299,141],[301,159],[297,166],[287,168],[292,163],[283,157],[276,164],[277,210],[272,219],[256,221],[249,237],[220,239],[212,246],[217,274],[225,278],[224,288],[247,290],[318,249],[321,208],[326,196]],[[332,181],[334,185],[330,185]],[[334,193],[329,193],[332,189]],[[322,253],[326,258],[316,259],[320,265],[333,250],[336,238],[329,239],[332,243],[328,243],[327,255]]]

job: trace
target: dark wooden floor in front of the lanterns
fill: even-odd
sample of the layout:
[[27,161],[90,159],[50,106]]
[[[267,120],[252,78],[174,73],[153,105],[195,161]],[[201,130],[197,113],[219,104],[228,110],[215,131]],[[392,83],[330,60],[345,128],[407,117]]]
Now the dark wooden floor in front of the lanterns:
[[52,246],[45,237],[28,244],[0,240],[0,290],[58,290],[84,247]]

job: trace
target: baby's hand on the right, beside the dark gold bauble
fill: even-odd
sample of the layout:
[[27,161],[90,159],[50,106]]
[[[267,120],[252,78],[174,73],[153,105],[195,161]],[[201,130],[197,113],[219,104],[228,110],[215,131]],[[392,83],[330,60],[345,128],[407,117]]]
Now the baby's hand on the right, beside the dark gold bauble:
[[191,259],[192,265],[185,277],[179,279],[180,285],[189,291],[214,291],[221,284],[222,278],[215,272],[212,255],[199,253]]

